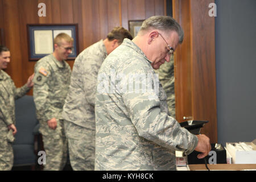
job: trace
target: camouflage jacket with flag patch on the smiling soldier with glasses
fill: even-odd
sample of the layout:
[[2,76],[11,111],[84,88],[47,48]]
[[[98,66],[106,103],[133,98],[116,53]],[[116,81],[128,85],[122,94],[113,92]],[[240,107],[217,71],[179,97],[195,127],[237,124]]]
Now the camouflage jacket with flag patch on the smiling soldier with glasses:
[[68,63],[58,61],[53,54],[43,57],[35,64],[33,97],[36,117],[41,126],[47,125],[49,119],[62,119],[70,77],[71,68]]

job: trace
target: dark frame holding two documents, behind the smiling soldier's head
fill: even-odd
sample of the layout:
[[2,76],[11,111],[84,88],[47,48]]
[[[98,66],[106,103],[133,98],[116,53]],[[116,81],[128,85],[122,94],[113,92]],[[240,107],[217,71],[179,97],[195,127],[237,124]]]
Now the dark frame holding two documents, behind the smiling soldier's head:
[[77,24],[27,24],[28,60],[37,61],[54,51],[53,39],[65,32],[74,39],[73,51],[67,60],[79,54]]

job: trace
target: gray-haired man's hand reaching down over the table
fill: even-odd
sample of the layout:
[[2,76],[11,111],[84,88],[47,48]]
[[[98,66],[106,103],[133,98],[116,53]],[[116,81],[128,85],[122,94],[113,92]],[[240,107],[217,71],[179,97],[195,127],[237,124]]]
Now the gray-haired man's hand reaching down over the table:
[[210,139],[206,135],[196,135],[196,137],[198,138],[198,143],[195,150],[202,152],[202,154],[197,155],[197,158],[203,159],[209,154],[210,149],[212,148],[210,146]]

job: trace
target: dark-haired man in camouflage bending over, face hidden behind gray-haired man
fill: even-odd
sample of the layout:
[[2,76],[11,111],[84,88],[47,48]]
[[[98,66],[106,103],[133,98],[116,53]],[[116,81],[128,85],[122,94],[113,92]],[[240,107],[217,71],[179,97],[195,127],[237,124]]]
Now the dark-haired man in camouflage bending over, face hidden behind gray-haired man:
[[84,49],[75,60],[69,93],[63,107],[69,158],[74,170],[94,170],[97,74],[106,56],[124,38],[132,39],[130,32],[123,27],[115,27],[105,40]]

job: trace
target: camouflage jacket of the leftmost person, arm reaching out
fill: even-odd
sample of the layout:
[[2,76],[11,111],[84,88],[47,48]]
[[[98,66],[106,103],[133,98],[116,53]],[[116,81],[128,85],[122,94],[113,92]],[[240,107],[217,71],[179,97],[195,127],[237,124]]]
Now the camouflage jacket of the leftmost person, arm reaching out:
[[0,128],[15,125],[15,100],[24,96],[29,90],[27,84],[16,88],[11,77],[0,70]]

